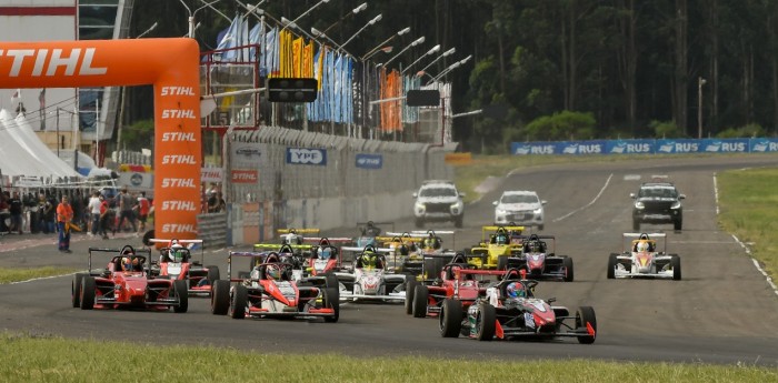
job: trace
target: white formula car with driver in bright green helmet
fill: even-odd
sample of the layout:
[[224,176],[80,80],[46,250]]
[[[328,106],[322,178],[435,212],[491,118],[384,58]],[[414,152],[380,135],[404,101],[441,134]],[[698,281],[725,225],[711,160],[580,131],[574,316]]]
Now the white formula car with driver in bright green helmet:
[[363,249],[345,246],[341,250],[358,252],[351,273],[336,273],[346,289],[341,292],[346,300],[405,301],[406,275],[392,274],[386,270],[386,253],[390,249],[368,245]]

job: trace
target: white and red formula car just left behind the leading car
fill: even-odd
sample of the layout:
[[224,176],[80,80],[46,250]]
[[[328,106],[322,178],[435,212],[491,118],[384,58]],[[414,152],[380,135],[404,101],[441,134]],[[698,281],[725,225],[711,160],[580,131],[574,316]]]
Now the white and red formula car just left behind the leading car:
[[[233,256],[256,256],[230,252]],[[263,256],[265,262],[255,266],[248,279],[219,280],[213,284],[211,312],[229,314],[232,319],[261,318],[323,318],[337,322],[340,316],[340,299],[335,285],[300,285],[291,279],[290,263],[281,262],[277,253]],[[230,274],[228,268],[228,274]],[[236,282],[231,284],[231,282]]]

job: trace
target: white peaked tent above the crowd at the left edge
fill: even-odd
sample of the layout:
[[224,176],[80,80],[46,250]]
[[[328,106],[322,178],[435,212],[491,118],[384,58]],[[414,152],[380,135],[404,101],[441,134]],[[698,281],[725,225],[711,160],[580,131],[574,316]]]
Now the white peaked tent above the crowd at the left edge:
[[80,174],[60,160],[32,131],[23,114],[16,119],[0,110],[0,170],[3,175],[58,178]]

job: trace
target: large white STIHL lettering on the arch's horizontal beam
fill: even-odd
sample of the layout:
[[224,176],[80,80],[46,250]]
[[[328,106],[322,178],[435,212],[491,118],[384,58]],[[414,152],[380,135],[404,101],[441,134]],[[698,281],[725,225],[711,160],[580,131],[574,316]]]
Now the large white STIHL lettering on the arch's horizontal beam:
[[[26,62],[34,61],[32,71],[23,73],[32,77],[57,75],[59,68],[64,69],[64,75],[100,75],[108,72],[108,68],[92,67],[96,48],[72,48],[64,49],[0,49],[0,59],[3,57],[13,58],[10,69],[0,67],[0,74],[8,71],[8,77],[19,77],[22,65]],[[79,65],[80,62],[80,65]],[[29,65],[28,65],[29,67]]]

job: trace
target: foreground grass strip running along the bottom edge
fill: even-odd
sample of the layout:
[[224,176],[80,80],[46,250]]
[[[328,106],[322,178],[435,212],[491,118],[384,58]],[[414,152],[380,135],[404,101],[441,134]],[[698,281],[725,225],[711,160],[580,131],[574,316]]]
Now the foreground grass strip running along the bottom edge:
[[670,363],[277,354],[0,334],[2,382],[775,382],[778,370]]

